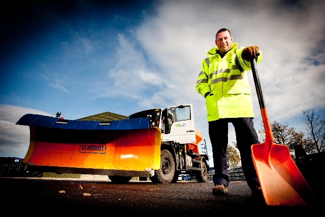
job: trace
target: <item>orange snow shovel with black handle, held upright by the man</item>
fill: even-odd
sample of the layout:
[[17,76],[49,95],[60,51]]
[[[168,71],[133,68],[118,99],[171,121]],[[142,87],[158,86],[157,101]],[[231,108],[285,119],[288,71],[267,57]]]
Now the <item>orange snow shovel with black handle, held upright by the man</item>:
[[265,202],[268,206],[313,205],[316,197],[291,158],[289,148],[273,142],[255,59],[250,63],[266,134],[265,142],[253,144],[251,151]]

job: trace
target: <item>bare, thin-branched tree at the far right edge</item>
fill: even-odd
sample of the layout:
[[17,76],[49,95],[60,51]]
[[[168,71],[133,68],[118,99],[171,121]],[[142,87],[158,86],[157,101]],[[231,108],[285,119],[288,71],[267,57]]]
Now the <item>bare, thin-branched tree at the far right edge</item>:
[[319,115],[315,115],[314,109],[304,110],[302,113],[312,148],[317,152],[323,151],[325,149],[325,119],[320,119]]

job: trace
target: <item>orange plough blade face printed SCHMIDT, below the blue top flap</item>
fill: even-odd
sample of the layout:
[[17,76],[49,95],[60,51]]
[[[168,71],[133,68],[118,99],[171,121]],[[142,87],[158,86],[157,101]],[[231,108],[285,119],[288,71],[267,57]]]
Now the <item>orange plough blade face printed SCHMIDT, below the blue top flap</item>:
[[160,143],[158,128],[76,131],[30,127],[30,143],[24,163],[76,173],[80,169],[103,170],[103,173],[107,170],[157,170],[160,167]]

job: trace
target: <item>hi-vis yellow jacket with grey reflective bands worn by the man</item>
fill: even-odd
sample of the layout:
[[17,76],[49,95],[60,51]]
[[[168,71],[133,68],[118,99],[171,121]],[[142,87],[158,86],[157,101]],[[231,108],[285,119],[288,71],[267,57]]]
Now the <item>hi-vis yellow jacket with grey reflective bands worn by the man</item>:
[[[197,91],[204,97],[208,121],[220,118],[254,117],[251,89],[244,71],[251,70],[250,62],[241,58],[245,47],[233,43],[228,53],[221,58],[218,48],[212,48],[203,60],[197,81]],[[262,59],[259,51],[256,64]]]

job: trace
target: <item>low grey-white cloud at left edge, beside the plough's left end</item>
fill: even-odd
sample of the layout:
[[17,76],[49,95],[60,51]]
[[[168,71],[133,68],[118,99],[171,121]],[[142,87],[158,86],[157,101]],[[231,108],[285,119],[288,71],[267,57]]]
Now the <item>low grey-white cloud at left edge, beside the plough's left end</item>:
[[16,125],[25,114],[51,114],[36,109],[0,104],[0,156],[24,158],[29,146],[29,127]]

